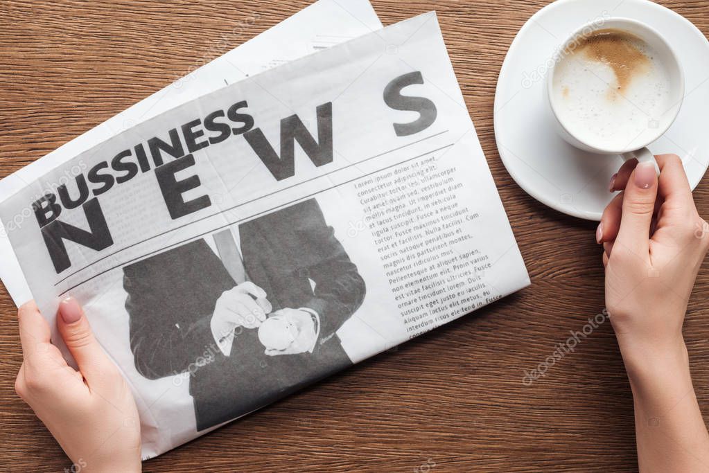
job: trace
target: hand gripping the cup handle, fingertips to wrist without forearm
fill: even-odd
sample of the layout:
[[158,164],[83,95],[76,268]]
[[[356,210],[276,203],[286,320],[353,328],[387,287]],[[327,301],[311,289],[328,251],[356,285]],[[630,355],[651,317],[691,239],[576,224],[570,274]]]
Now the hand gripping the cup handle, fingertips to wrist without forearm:
[[[625,189],[603,212],[605,302],[629,370],[683,350],[682,324],[709,230],[694,205],[678,156],[628,161],[611,182]],[[637,167],[636,167],[637,166]],[[632,374],[632,372],[631,372]]]

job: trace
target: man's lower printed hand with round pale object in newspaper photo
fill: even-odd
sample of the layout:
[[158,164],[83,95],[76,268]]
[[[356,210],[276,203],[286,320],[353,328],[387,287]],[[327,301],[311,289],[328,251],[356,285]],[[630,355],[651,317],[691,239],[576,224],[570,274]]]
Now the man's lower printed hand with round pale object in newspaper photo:
[[313,351],[318,340],[318,317],[305,309],[281,309],[259,326],[259,341],[269,356]]

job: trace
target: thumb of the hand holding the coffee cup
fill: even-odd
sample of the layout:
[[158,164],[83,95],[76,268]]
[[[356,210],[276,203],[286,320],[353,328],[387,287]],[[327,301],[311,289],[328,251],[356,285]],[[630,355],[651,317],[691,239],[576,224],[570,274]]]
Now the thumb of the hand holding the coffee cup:
[[620,246],[640,255],[647,254],[656,198],[655,164],[653,161],[644,161],[635,167],[625,188],[623,217],[620,219],[620,231],[616,240]]

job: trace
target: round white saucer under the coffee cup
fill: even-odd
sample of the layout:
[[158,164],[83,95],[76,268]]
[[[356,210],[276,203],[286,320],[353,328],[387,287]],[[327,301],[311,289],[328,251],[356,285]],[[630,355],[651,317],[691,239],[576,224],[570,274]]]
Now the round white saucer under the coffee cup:
[[[554,132],[544,100],[547,61],[574,30],[596,19],[635,18],[666,33],[684,69],[682,110],[649,148],[681,156],[692,189],[709,164],[709,42],[686,18],[647,0],[558,0],[520,29],[502,65],[495,95],[495,136],[505,167],[529,195],[559,212],[601,220],[608,183],[623,160],[583,152]],[[535,74],[535,72],[540,74]]]

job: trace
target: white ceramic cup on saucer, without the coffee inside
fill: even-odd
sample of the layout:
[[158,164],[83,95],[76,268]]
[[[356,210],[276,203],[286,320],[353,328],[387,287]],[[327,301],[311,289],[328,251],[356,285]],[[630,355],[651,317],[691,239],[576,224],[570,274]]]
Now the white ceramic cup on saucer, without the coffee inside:
[[[659,116],[648,116],[647,130],[643,130],[635,139],[628,137],[627,146],[622,148],[618,146],[614,147],[613,145],[603,142],[601,137],[593,139],[591,137],[581,137],[578,133],[574,134],[574,132],[571,132],[569,126],[564,123],[564,119],[559,113],[559,98],[557,94],[554,93],[554,72],[558,64],[564,59],[564,54],[569,50],[574,50],[574,45],[578,45],[579,41],[583,40],[583,38],[594,31],[605,29],[630,33],[646,42],[647,45],[657,52],[658,57],[654,57],[653,61],[663,64],[669,76],[669,103],[672,105]],[[587,152],[596,154],[620,154],[625,161],[637,159],[639,162],[654,162],[654,155],[647,147],[664,135],[672,125],[679,114],[684,97],[684,74],[680,67],[679,60],[660,33],[649,25],[630,18],[608,18],[605,21],[588,23],[576,30],[569,39],[564,42],[557,54],[559,56],[554,58],[554,63],[548,72],[547,86],[544,89],[552,110],[552,115],[554,115],[554,124],[557,127],[559,135],[566,142],[569,142],[569,144]],[[655,167],[657,169],[657,163],[655,163]]]

